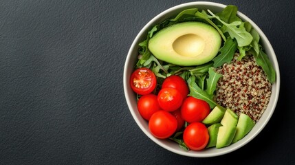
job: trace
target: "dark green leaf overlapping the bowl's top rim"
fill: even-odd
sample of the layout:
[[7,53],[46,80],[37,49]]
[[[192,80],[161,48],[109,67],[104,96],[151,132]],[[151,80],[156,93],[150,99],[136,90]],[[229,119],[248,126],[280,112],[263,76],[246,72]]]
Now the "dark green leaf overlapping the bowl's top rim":
[[226,23],[232,23],[234,21],[241,21],[239,17],[237,17],[238,8],[235,5],[227,5],[226,8],[222,10],[222,12],[217,13],[216,15]]

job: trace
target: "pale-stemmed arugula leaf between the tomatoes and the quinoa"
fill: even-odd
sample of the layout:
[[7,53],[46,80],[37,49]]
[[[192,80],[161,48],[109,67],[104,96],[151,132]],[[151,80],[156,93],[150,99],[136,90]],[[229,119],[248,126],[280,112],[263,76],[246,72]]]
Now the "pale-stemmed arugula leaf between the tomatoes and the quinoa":
[[207,94],[206,91],[202,90],[197,83],[195,83],[195,76],[190,76],[187,80],[188,88],[190,89],[190,94],[188,96],[193,96],[194,98],[199,98],[208,102],[210,108],[214,108],[217,103],[213,100],[213,97]]

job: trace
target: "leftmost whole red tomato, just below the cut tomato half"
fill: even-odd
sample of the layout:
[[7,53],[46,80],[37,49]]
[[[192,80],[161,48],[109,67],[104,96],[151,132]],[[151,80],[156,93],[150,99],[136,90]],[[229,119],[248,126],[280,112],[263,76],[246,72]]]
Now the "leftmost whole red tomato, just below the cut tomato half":
[[157,96],[155,96],[154,94],[141,96],[138,100],[138,111],[140,112],[140,115],[142,115],[142,118],[144,118],[145,120],[149,120],[151,118],[151,115],[159,110],[160,105],[157,102]]

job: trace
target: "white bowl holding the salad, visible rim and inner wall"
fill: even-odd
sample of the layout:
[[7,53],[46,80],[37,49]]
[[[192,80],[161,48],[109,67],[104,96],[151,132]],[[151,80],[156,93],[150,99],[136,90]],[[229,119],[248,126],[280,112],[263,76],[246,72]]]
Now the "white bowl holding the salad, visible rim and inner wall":
[[[181,5],[176,5],[173,8],[169,8],[168,10],[165,10],[164,12],[158,14],[155,18],[153,18],[149,23],[147,23],[142,30],[140,30],[139,34],[136,36],[135,40],[133,41],[129,53],[127,55],[127,59],[124,66],[124,94],[125,98],[127,100],[127,104],[129,107],[129,110],[135,120],[135,122],[140,126],[140,129],[156,144],[159,144],[163,148],[166,148],[168,151],[172,151],[173,153],[177,153],[179,155],[186,155],[189,157],[214,157],[217,155],[223,155],[226,153],[230,153],[232,151],[237,150],[238,148],[241,148],[241,146],[244,146],[248,142],[250,142],[256,135],[258,135],[261,130],[265,127],[267,122],[270,120],[272,113],[274,112],[274,109],[276,107],[276,102],[278,101],[278,93],[280,89],[280,73],[278,69],[278,62],[276,60],[276,55],[274,53],[274,50],[272,48],[272,45],[270,44],[270,41],[268,41],[267,37],[263,32],[260,30],[260,28],[248,17],[246,17],[241,12],[238,12],[238,16],[243,19],[243,21],[248,21],[251,23],[252,27],[259,33],[261,37],[261,43],[263,47],[265,48],[265,53],[269,56],[270,61],[272,62],[272,65],[274,66],[274,69],[276,70],[276,82],[272,85],[272,96],[270,97],[270,103],[267,106],[267,109],[261,116],[261,119],[259,122],[256,123],[252,131],[248,133],[243,139],[239,140],[238,142],[231,144],[230,146],[224,147],[224,148],[208,148],[203,151],[184,151],[182,148],[179,147],[179,144],[176,142],[173,142],[171,140],[160,140],[154,137],[150,131],[149,131],[149,124],[144,120],[137,109],[137,100],[135,93],[132,91],[131,87],[129,87],[129,78],[133,72],[135,63],[137,62],[138,57],[138,43],[144,41],[146,39],[147,32],[151,30],[153,25],[156,25],[158,23],[161,23],[165,19],[171,19],[175,17],[179,12],[182,10],[188,9],[188,8],[198,8],[199,10],[206,10],[209,9],[212,12],[221,12],[223,8],[225,8],[226,5],[220,4],[220,3],[212,3],[212,2],[206,2],[206,1],[197,1],[197,2],[191,2],[191,3],[184,3]],[[239,6],[238,6],[239,8]]]

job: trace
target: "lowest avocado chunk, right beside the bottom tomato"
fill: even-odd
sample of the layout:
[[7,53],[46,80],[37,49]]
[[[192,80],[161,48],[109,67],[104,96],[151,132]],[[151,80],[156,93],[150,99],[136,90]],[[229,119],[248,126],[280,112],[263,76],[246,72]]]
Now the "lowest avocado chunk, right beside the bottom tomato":
[[227,125],[220,126],[217,134],[216,148],[229,146],[232,143],[234,135],[237,131],[237,126]]

